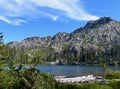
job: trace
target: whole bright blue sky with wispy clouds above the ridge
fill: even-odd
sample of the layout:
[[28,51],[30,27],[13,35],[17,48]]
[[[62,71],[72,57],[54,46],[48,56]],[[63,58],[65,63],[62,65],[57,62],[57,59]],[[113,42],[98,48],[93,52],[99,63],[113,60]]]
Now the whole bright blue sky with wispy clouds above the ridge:
[[73,32],[89,20],[120,21],[120,0],[0,0],[4,43]]

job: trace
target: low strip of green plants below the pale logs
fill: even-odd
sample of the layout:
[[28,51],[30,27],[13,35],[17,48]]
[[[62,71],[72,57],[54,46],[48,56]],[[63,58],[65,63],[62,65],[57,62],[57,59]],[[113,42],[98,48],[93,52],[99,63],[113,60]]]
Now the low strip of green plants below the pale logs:
[[111,82],[108,84],[101,83],[83,83],[83,84],[58,84],[56,89],[119,89],[120,82]]

